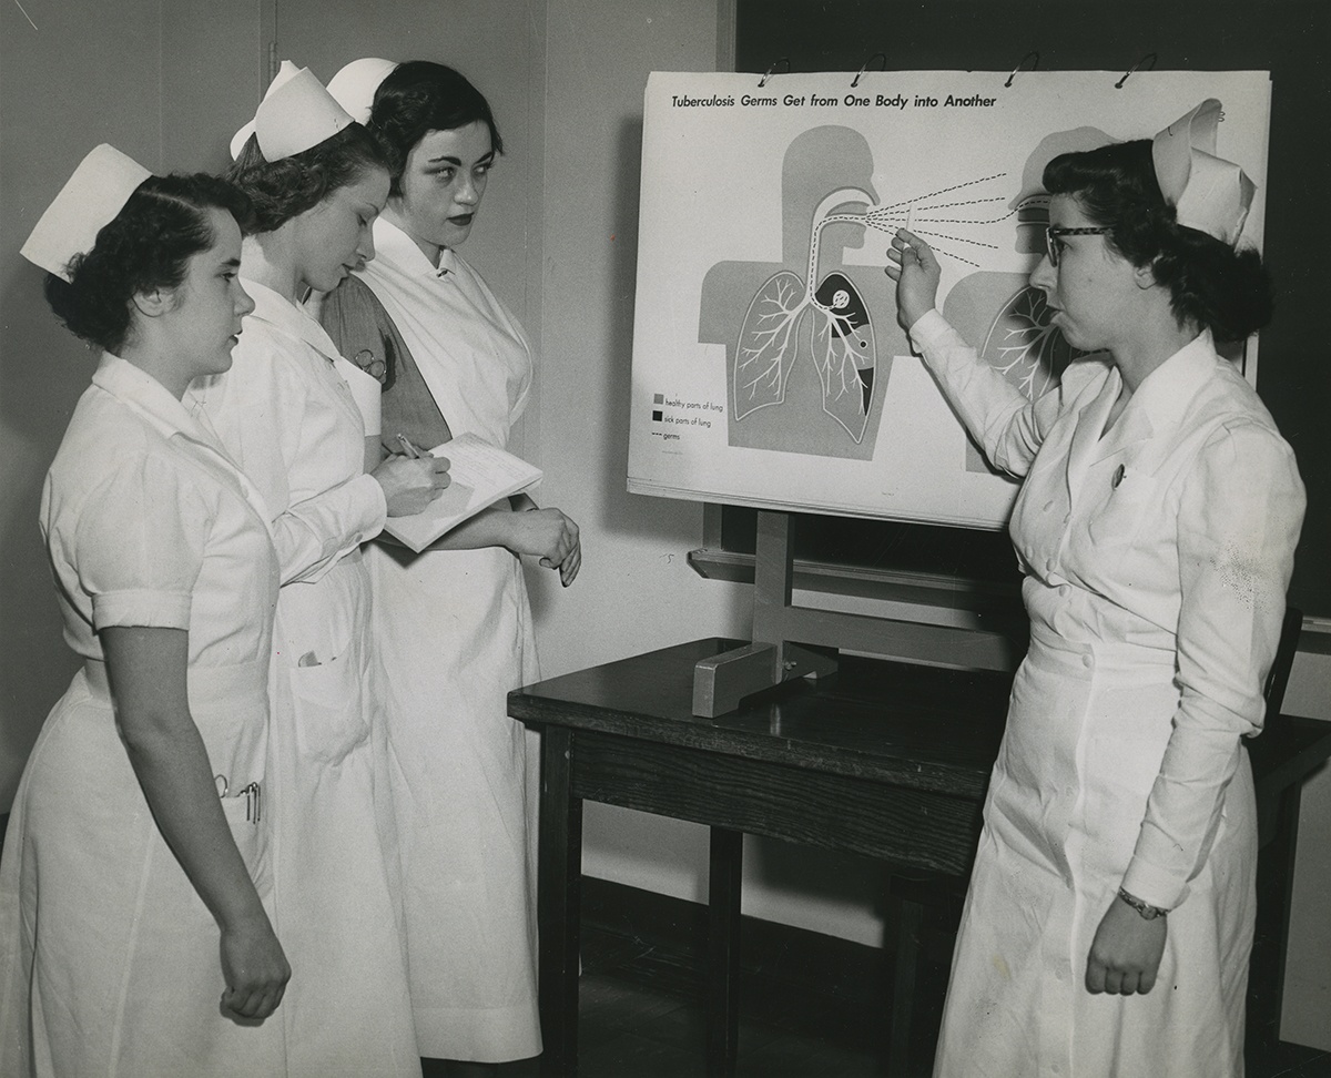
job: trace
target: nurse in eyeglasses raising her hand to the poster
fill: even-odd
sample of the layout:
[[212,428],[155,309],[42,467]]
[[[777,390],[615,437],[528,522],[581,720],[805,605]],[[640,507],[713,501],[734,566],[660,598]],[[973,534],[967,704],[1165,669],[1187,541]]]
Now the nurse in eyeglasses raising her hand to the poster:
[[[1219,102],[1045,170],[1032,275],[1097,355],[1032,402],[933,310],[902,230],[902,323],[986,456],[1024,479],[1017,672],[953,956],[936,1075],[1243,1073],[1256,812],[1239,740],[1303,520],[1294,454],[1217,354],[1270,314],[1236,249],[1252,185]],[[1170,130],[1174,134],[1170,134]]]

